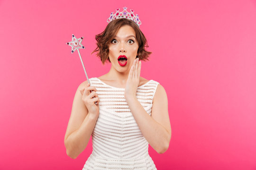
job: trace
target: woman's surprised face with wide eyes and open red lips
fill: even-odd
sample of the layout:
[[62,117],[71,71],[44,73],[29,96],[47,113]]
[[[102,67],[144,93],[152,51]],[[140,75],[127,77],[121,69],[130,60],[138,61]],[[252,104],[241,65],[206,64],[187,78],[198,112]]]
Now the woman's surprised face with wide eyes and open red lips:
[[[131,26],[122,26],[119,28],[116,36],[109,44],[109,58],[112,66],[119,72],[128,71],[136,59],[138,43],[136,33]],[[118,60],[119,56],[126,57]]]

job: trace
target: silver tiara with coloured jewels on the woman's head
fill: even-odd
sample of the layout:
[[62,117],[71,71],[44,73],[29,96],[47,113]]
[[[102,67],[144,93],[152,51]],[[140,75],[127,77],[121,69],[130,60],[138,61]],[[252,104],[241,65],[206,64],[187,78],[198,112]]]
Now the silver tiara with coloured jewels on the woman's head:
[[112,20],[115,20],[115,19],[127,18],[127,19],[134,21],[137,24],[137,26],[139,27],[141,25],[141,21],[139,20],[138,15],[136,14],[136,16],[135,16],[133,14],[132,9],[130,9],[131,12],[128,12],[126,9],[127,8],[124,7],[124,10],[121,12],[120,8],[117,8],[115,14],[113,12],[111,12],[110,17],[107,19],[107,22],[110,23]]

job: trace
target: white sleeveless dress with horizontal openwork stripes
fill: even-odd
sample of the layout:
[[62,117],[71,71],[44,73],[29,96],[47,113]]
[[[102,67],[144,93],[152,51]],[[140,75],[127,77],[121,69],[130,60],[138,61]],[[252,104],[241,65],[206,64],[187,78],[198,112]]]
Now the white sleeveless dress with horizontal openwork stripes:
[[[90,78],[99,95],[99,117],[91,134],[92,153],[82,170],[156,170],[142,135],[125,100],[125,88]],[[151,115],[153,97],[159,83],[149,80],[137,87],[137,100]],[[146,122],[145,122],[146,123]]]

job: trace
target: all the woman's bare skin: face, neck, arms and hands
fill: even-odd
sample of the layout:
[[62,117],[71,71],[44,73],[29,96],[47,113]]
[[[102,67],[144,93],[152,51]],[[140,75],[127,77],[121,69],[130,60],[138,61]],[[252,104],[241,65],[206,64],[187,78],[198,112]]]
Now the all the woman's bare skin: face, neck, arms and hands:
[[[167,95],[164,87],[158,85],[151,116],[137,100],[137,87],[148,81],[140,76],[141,61],[136,59],[137,50],[134,29],[131,26],[120,27],[115,39],[109,44],[110,71],[99,79],[108,85],[125,88],[125,99],[143,136],[157,153],[165,153],[171,140]],[[119,55],[128,58],[126,66],[119,65]],[[79,85],[64,137],[69,157],[75,159],[86,148],[99,117],[99,102],[95,87],[89,86],[87,81]]]

